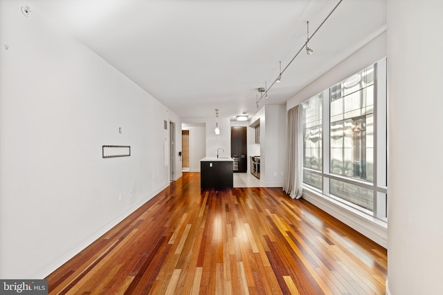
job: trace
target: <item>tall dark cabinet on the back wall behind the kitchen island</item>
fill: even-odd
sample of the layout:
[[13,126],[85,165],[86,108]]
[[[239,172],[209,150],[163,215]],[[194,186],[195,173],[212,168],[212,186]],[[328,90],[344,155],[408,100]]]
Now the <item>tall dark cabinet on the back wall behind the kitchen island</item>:
[[230,127],[230,156],[234,160],[234,172],[245,173],[248,170],[247,127]]

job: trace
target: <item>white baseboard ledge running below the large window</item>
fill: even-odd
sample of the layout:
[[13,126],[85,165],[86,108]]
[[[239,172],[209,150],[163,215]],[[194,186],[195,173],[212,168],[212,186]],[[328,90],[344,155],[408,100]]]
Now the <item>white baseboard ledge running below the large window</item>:
[[352,207],[347,207],[345,204],[311,189],[303,188],[302,198],[334,216],[345,225],[359,231],[363,236],[377,242],[382,247],[388,247],[388,225],[386,222],[368,216]]

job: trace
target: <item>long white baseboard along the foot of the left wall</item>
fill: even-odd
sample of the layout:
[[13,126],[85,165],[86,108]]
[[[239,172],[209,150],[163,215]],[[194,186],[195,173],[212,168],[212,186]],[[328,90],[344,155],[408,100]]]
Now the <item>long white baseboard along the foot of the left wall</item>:
[[129,207],[129,209],[122,212],[119,216],[111,220],[107,225],[102,227],[101,229],[98,229],[94,234],[89,236],[89,238],[78,240],[78,242],[75,242],[70,247],[67,247],[66,249],[60,251],[58,254],[55,254],[52,258],[49,258],[46,260],[45,263],[42,263],[39,267],[35,268],[32,272],[29,272],[24,276],[23,279],[41,279],[46,278],[49,274],[55,271],[55,269],[61,267],[64,263],[66,263],[68,260],[73,258],[75,255],[80,253],[83,249],[91,245],[94,241],[96,241],[100,236],[103,236],[107,233],[110,229],[118,225],[119,222],[123,221],[127,216],[131,215],[136,211],[138,208],[143,206],[147,201],[151,200],[156,196],[158,193],[163,191],[163,189],[166,189],[169,187],[169,182],[167,184],[163,184],[162,187],[159,187],[159,189],[156,189],[156,191],[150,193],[148,196],[143,198],[143,200],[140,200],[139,202],[136,202],[136,204],[132,205],[132,207]]

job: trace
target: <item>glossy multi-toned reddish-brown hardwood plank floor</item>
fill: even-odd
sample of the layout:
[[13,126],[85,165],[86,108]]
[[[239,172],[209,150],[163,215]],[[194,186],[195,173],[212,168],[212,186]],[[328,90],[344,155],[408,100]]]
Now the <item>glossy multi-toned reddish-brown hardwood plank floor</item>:
[[49,294],[385,294],[386,256],[281,188],[183,173],[47,279]]

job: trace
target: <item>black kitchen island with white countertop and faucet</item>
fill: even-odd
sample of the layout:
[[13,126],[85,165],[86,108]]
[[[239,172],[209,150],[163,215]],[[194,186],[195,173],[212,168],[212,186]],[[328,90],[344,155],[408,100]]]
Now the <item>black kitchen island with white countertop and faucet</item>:
[[233,188],[234,187],[233,158],[206,157],[200,160],[200,187]]

